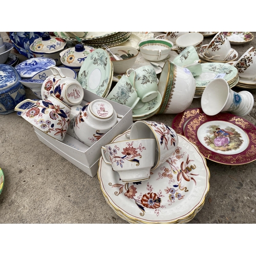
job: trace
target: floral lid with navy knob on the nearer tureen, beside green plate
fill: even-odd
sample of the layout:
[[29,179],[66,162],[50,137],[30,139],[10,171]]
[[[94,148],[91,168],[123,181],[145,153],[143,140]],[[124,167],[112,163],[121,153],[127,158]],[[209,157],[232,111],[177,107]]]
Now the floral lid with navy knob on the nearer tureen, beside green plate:
[[75,47],[69,48],[68,50],[61,52],[60,59],[64,65],[71,67],[81,67],[83,61],[94,50],[95,49],[91,46],[77,44]]

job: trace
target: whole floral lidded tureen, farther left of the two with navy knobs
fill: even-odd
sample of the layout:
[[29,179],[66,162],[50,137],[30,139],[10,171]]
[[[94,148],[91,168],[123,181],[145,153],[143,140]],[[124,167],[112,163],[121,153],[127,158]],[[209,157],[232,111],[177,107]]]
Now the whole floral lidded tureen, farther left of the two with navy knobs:
[[34,40],[29,49],[34,57],[47,57],[56,61],[56,65],[61,65],[59,53],[67,47],[66,40],[44,34]]

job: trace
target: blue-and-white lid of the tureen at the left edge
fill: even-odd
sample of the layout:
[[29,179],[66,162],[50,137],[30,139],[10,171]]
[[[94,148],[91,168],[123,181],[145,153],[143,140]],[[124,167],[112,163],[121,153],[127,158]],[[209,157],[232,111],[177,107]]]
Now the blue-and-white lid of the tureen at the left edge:
[[20,76],[12,66],[0,64],[0,94],[7,93],[18,86]]

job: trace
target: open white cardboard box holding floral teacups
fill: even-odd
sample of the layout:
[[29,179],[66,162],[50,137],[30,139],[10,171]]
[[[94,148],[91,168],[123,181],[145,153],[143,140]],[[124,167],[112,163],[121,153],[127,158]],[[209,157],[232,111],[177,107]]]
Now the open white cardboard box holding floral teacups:
[[113,105],[116,113],[123,115],[122,118],[118,119],[117,124],[97,142],[89,147],[69,134],[66,134],[64,140],[61,142],[40,131],[36,127],[34,127],[34,130],[42,143],[52,148],[52,150],[83,170],[83,172],[94,177],[97,174],[98,160],[101,156],[101,146],[108,144],[114,137],[130,129],[133,124],[133,112],[131,108],[125,105],[102,98],[85,89],[83,90],[84,97],[81,105],[95,99],[104,99]]

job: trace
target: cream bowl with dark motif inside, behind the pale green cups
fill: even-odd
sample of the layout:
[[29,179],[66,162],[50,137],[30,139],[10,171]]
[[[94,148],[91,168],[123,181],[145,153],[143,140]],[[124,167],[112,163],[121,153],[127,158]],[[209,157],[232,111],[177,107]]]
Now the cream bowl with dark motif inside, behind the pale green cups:
[[115,74],[124,74],[128,69],[132,68],[139,51],[130,46],[116,46],[110,48],[120,60],[115,60],[114,57],[110,56],[110,59],[113,63],[114,73]]

